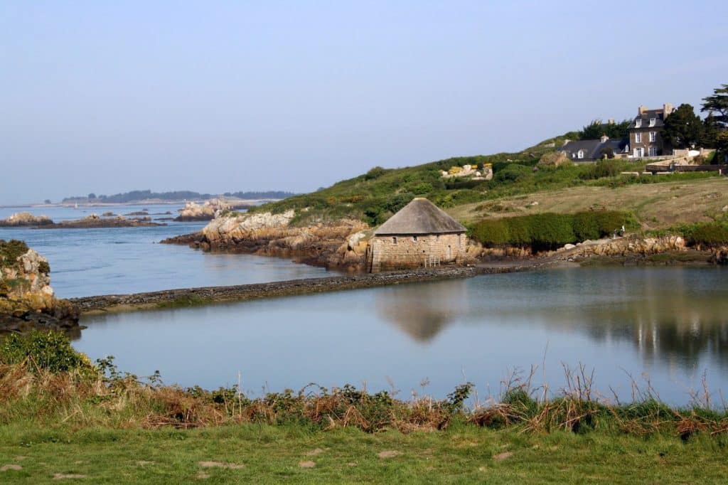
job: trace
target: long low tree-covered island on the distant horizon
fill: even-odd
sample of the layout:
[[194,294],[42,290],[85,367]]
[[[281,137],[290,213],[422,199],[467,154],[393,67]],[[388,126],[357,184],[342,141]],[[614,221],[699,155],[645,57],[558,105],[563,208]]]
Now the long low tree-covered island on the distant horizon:
[[[243,200],[280,200],[296,195],[293,192],[269,190],[265,192],[225,192],[224,194],[200,194],[191,190],[177,190],[174,192],[151,192],[151,190],[132,190],[114,195],[79,195],[65,197],[62,204],[128,204],[130,202],[146,202],[161,200],[164,202],[177,202],[181,200],[207,200],[218,197],[230,197]],[[50,203],[50,200],[46,200]]]

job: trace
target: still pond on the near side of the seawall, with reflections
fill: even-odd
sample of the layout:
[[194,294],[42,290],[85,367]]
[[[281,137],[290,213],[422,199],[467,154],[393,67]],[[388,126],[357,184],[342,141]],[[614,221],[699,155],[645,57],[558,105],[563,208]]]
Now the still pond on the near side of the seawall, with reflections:
[[[124,371],[215,388],[390,385],[480,398],[509,372],[539,366],[558,390],[563,365],[594,369],[596,388],[630,398],[630,376],[687,403],[707,373],[728,391],[728,270],[554,269],[192,309],[85,318],[74,345]],[[545,366],[542,363],[545,362]]]

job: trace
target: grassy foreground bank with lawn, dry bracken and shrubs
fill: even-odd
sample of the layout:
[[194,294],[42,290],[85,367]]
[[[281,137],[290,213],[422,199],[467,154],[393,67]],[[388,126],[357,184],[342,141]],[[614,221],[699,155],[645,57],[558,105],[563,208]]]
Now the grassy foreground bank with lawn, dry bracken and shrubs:
[[0,346],[0,481],[720,481],[728,411],[648,392],[595,398],[584,369],[549,396],[529,379],[498,401],[310,385],[248,398],[92,364],[59,334]]

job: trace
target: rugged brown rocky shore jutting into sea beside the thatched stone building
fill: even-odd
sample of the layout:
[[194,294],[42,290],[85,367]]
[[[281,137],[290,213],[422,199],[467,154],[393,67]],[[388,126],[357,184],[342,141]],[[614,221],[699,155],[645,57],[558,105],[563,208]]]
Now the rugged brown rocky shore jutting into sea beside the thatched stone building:
[[369,229],[366,224],[341,219],[298,227],[290,225],[293,216],[293,210],[220,216],[210,221],[202,232],[162,242],[189,244],[205,251],[280,256],[326,268],[363,270],[365,232]]

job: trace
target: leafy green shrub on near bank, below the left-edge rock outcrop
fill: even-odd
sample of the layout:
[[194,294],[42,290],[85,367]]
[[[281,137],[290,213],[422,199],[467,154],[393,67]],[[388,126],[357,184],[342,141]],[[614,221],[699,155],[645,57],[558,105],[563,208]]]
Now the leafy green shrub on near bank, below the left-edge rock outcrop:
[[94,370],[89,358],[76,352],[68,337],[59,332],[33,330],[28,334],[10,334],[0,347],[0,360],[7,364],[28,360],[34,370],[53,373]]

